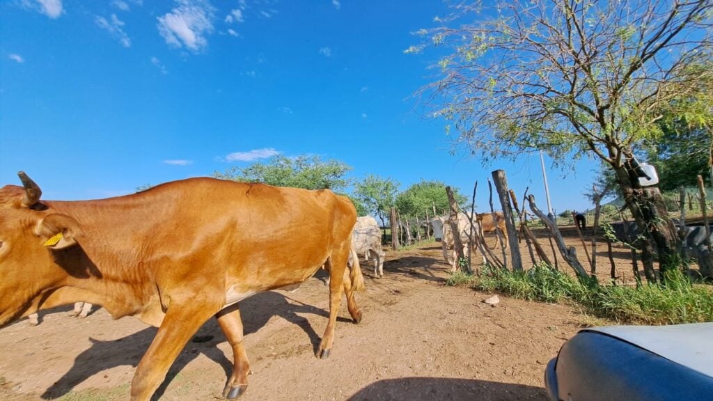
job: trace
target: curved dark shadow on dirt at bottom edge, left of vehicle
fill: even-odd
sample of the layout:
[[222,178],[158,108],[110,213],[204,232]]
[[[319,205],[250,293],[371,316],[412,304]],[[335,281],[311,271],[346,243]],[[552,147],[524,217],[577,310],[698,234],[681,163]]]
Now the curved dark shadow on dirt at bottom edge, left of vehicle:
[[362,388],[348,401],[426,400],[548,400],[543,387],[441,377],[403,377],[379,380]]

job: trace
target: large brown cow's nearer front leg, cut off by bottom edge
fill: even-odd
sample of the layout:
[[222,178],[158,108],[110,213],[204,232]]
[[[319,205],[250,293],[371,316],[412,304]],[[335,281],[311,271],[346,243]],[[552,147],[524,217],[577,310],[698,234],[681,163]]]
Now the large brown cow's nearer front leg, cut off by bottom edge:
[[[219,293],[220,291],[216,291]],[[141,358],[131,381],[131,401],[149,401],[190,337],[220,310],[222,300],[206,293],[171,299],[163,323]]]

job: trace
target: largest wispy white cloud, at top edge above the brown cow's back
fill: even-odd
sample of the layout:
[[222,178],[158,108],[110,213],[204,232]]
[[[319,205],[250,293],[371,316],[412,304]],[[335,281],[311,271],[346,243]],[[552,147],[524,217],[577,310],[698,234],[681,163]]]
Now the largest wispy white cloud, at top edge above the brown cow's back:
[[215,9],[205,0],[176,2],[178,6],[170,13],[158,17],[158,31],[170,46],[200,51],[208,44],[205,36],[213,31]]

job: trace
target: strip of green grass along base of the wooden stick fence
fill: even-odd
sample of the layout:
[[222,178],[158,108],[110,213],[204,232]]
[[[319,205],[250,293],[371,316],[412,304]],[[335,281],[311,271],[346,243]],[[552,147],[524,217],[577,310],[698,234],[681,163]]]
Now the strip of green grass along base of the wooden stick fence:
[[538,265],[522,272],[486,267],[480,275],[456,273],[449,285],[467,285],[513,298],[548,303],[573,303],[585,313],[620,323],[665,325],[713,321],[713,291],[694,285],[683,273],[674,270],[665,286],[598,285]]

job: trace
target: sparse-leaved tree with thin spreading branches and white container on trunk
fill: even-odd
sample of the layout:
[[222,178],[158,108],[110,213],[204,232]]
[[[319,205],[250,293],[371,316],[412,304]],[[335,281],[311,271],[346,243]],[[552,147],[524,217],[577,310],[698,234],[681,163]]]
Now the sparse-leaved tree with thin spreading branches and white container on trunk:
[[[464,1],[438,19],[443,26],[421,31],[446,54],[442,78],[421,95],[457,133],[456,144],[483,163],[534,149],[565,165],[600,158],[655,243],[660,268],[675,268],[674,225],[658,188],[640,185],[634,153],[661,134],[665,111],[708,118],[712,7],[712,0]],[[650,266],[651,250],[643,255]]]

